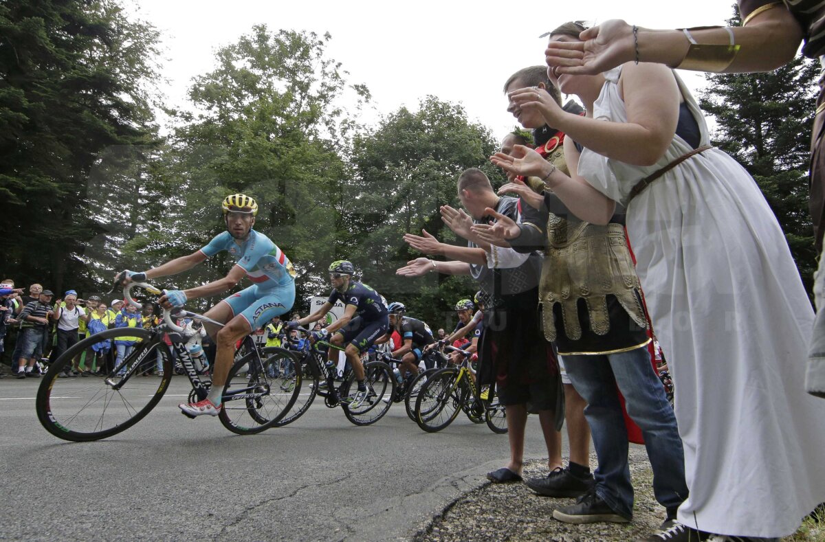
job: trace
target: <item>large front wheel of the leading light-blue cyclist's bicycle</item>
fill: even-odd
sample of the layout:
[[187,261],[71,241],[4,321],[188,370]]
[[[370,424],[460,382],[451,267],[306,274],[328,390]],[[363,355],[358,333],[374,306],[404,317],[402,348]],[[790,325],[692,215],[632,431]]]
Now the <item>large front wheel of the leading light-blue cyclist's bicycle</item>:
[[[111,341],[137,337],[129,355],[115,367]],[[61,378],[72,368],[72,359],[84,351],[107,352],[98,373],[78,378]],[[163,377],[140,376],[150,371],[161,356]],[[87,354],[89,355],[89,354]],[[91,362],[87,362],[87,367]],[[102,371],[102,372],[101,372]],[[123,376],[118,373],[123,371]],[[172,377],[169,350],[158,334],[148,329],[106,329],[68,348],[49,367],[37,390],[35,410],[46,431],[73,442],[97,441],[111,437],[138,423],[163,397]]]

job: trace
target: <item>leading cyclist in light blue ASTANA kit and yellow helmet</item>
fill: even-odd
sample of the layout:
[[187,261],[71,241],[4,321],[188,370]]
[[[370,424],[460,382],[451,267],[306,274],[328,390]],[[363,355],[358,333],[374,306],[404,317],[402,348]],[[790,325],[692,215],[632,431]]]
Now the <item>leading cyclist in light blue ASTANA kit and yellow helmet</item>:
[[229,368],[232,366],[235,343],[255,329],[262,328],[274,316],[282,315],[295,302],[295,269],[290,259],[278,246],[262,233],[252,229],[257,215],[257,203],[244,194],[232,194],[221,204],[227,231],[219,233],[209,244],[191,255],[172,259],[163,265],[143,273],[125,271],[122,283],[143,282],[192,269],[200,262],[227,250],[236,264],[226,277],[188,290],[169,290],[160,298],[166,308],[183,306],[188,299],[214,296],[235,287],[243,275],[252,286],[234,293],[206,312],[212,320],[225,323],[214,341],[217,352],[212,373],[210,393],[196,403],[181,403],[178,407],[192,416],[208,414],[217,416],[222,408],[221,393],[224,390]]

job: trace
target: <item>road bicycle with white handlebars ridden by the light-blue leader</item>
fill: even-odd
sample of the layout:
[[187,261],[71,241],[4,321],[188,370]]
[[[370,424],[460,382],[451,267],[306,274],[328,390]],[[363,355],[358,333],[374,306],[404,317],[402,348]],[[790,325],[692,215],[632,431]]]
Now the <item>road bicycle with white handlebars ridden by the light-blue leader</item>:
[[[153,296],[163,293],[148,283],[130,283],[124,288],[124,297],[139,309],[142,305],[131,297],[133,287],[144,288]],[[199,320],[215,329],[223,327],[220,322],[191,311],[178,311],[175,316]],[[40,382],[35,400],[40,423],[54,436],[75,442],[95,441],[125,431],[143,419],[166,393],[172,379],[172,353],[191,382],[188,400],[205,399],[211,378],[199,374],[182,332],[172,321],[171,312],[164,310],[163,324],[155,329],[106,329],[74,344],[51,364]],[[171,347],[163,342],[164,335],[172,342]],[[122,358],[115,357],[111,343],[124,339],[135,339],[134,347]],[[101,374],[82,379],[58,378],[61,372],[71,368],[73,357],[92,351],[105,353]],[[300,382],[292,385],[291,381],[270,376],[271,367],[279,363],[283,355],[289,353],[264,360],[252,338],[243,339],[224,385],[224,406],[219,418],[225,428],[242,435],[262,432],[295,403]],[[160,382],[139,376],[151,370],[158,357],[163,367]]]

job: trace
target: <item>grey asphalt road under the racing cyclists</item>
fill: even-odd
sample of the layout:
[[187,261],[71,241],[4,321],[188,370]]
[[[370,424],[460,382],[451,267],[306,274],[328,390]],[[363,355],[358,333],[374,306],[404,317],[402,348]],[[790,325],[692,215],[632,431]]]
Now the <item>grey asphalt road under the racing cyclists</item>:
[[[486,424],[429,434],[403,404],[359,428],[316,399],[240,437],[179,413],[182,376],[133,428],[64,442],[37,420],[39,383],[0,380],[0,540],[408,540],[508,456]],[[546,456],[533,416],[526,456]]]

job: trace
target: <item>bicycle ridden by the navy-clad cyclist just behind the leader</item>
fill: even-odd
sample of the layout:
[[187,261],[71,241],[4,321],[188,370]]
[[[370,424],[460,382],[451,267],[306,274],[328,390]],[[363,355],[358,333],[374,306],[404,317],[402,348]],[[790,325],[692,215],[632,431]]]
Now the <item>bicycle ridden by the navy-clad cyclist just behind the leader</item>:
[[[308,336],[311,333],[309,329],[301,327],[295,329]],[[297,359],[296,372],[301,373],[306,390],[290,413],[275,425],[285,425],[285,423],[298,419],[309,409],[316,395],[323,397],[323,404],[330,409],[340,406],[347,419],[356,425],[370,425],[387,414],[392,400],[382,399],[391,399],[396,387],[389,365],[380,361],[364,363],[367,397],[361,404],[354,405],[352,396],[357,390],[355,372],[351,367],[347,367],[342,375],[341,385],[336,387],[337,364],[329,362],[327,353],[321,349],[332,348],[343,352],[344,348],[323,340],[314,343],[305,341],[303,346],[300,346],[299,341],[295,339],[289,339],[288,343],[290,353]],[[348,363],[347,366],[349,366]]]

